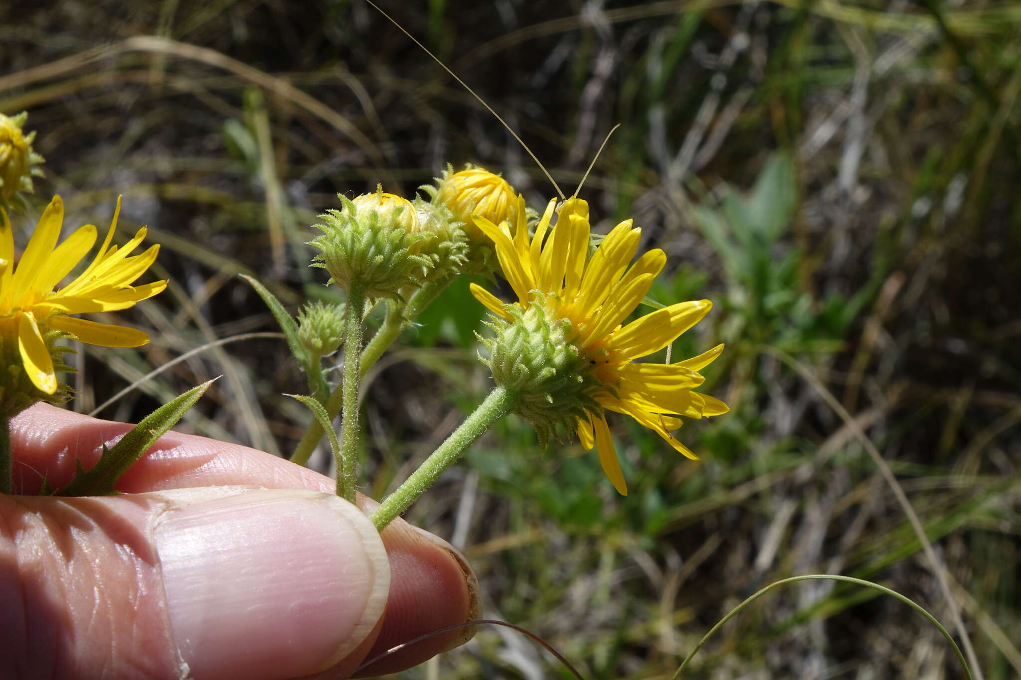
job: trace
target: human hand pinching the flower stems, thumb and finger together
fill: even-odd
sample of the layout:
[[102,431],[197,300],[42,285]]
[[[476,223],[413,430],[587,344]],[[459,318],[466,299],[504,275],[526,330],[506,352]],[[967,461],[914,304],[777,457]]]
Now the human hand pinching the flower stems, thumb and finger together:
[[[25,495],[0,494],[6,677],[347,678],[479,618],[456,551],[400,519],[377,533],[333,480],[253,449],[168,432],[120,479],[130,495],[37,495],[129,429],[46,404],[11,421]],[[436,635],[359,674],[472,634]]]

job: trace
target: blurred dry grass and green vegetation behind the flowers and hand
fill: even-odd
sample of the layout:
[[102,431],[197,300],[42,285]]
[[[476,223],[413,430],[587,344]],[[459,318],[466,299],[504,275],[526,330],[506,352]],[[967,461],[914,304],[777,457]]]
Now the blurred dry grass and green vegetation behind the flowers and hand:
[[[388,2],[602,232],[633,216],[670,264],[657,300],[710,298],[674,356],[727,351],[680,459],[613,422],[631,489],[577,443],[545,455],[508,419],[409,512],[451,540],[486,616],[587,678],[669,678],[731,607],[785,576],[887,584],[952,628],[933,567],[863,448],[917,510],[985,677],[1021,677],[1021,4],[1006,0]],[[447,162],[552,196],[478,102],[359,0],[62,0],[0,6],[0,112],[28,110],[67,225],[163,244],[171,289],[140,305],[140,351],[87,348],[91,412],[207,344],[275,331],[238,273],[294,309],[333,295],[307,267],[336,194],[410,196]],[[456,281],[374,369],[361,487],[393,488],[489,387],[482,308]],[[193,431],[287,455],[309,416],[275,337],[206,349],[104,406],[137,420],[225,374]],[[807,377],[811,379],[807,379]],[[841,418],[824,395],[849,414]],[[326,456],[313,462],[326,465]],[[325,469],[325,468],[324,468]],[[406,678],[567,677],[485,628]],[[694,678],[960,678],[902,604],[831,582],[768,596],[695,659]]]

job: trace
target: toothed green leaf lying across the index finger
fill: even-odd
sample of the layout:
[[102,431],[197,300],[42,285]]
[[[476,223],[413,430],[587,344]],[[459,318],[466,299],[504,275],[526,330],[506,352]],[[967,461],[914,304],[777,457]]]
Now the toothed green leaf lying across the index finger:
[[54,495],[112,495],[116,493],[114,487],[121,475],[132,466],[132,463],[142,458],[156,439],[174,427],[215,379],[189,389],[150,413],[142,422],[125,434],[112,449],[107,449],[104,444],[103,455],[92,469],[84,470],[81,461],[76,460],[78,473],[69,484]]

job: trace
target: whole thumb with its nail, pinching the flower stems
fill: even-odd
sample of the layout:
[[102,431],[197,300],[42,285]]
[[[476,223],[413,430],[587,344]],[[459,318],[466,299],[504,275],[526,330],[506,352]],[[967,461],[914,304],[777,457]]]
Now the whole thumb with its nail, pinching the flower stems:
[[346,677],[389,584],[372,523],[327,493],[0,494],[8,677]]

